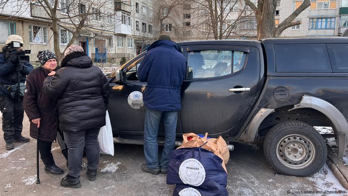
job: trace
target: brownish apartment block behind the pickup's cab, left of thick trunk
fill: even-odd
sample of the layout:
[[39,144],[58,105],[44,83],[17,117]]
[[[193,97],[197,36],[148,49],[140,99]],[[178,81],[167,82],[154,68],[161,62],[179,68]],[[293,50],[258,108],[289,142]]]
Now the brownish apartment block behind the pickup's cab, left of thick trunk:
[[[257,0],[253,0],[257,3]],[[154,18],[155,34],[165,33],[171,35],[174,41],[215,39],[211,27],[209,10],[204,1],[185,0],[177,4],[175,0],[157,0],[154,10],[157,13]],[[214,10],[215,11],[215,10]],[[257,22],[253,11],[244,0],[225,1],[223,10],[218,14],[224,15],[222,39],[256,39]]]

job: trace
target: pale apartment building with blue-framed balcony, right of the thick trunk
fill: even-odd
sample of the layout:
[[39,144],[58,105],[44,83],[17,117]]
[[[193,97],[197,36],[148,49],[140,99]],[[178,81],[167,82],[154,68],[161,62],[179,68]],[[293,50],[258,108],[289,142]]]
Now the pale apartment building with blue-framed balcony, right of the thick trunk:
[[[275,11],[275,24],[283,21],[302,3],[302,0],[281,0]],[[301,12],[295,21],[302,24],[283,31],[281,37],[337,36],[347,28],[348,0],[311,0],[310,7]]]

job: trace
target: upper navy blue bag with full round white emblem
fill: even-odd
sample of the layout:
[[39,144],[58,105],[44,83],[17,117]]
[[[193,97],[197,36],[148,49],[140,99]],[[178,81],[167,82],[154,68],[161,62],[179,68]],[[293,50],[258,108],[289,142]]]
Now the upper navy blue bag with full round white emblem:
[[171,152],[167,184],[185,184],[203,190],[226,188],[227,173],[222,159],[200,147],[179,148]]

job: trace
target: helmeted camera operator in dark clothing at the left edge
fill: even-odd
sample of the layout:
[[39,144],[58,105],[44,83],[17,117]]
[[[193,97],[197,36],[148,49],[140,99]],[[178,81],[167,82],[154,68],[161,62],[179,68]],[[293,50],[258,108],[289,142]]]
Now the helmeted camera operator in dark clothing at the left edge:
[[[20,48],[11,48],[11,42],[20,42]],[[33,69],[28,63],[19,63],[18,53],[23,51],[23,39],[18,35],[8,36],[0,52],[0,111],[2,113],[3,138],[6,150],[14,148],[13,142],[29,142],[22,136],[23,94],[26,76]],[[19,72],[19,80],[17,73]],[[17,91],[18,83],[20,91]],[[18,92],[20,95],[18,95]]]

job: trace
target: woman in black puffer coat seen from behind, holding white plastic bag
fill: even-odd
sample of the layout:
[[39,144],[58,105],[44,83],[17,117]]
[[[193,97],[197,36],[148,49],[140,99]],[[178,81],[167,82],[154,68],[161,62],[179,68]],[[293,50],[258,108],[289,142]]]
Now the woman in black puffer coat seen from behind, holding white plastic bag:
[[87,178],[95,180],[99,162],[98,133],[105,125],[108,83],[83,48],[71,45],[54,77],[48,77],[43,91],[58,101],[59,127],[68,146],[69,174],[61,186],[80,188],[83,152],[87,155]]

